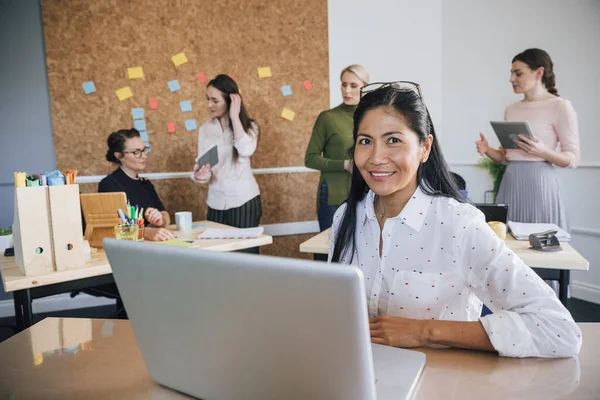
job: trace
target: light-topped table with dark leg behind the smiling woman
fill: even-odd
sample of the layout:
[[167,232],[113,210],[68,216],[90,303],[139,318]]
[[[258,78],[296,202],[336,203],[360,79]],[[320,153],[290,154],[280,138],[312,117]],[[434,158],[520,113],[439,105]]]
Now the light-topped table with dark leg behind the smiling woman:
[[[329,233],[327,229],[318,235],[313,236],[300,244],[300,252],[328,254],[329,253]],[[559,294],[558,298],[566,306],[570,271],[588,271],[590,263],[583,258],[569,243],[561,243],[563,251],[560,253],[548,253],[537,250],[531,250],[529,241],[515,240],[507,235],[506,245],[523,262],[533,268],[543,279],[558,280]]]

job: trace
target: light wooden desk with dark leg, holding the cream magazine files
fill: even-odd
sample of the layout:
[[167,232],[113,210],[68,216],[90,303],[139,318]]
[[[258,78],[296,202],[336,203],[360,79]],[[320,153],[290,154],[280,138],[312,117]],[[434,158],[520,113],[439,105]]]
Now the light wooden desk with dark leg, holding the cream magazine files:
[[[204,250],[234,251],[273,243],[273,238],[268,235],[262,235],[255,239],[198,240],[198,234],[204,232],[206,228],[231,227],[210,221],[199,221],[197,224],[205,224],[206,226],[185,232],[176,231],[175,225],[170,225],[168,229],[172,230],[175,236],[182,240],[194,240],[194,248]],[[15,318],[19,330],[32,324],[31,304],[33,299],[114,282],[110,264],[106,258],[106,253],[102,249],[93,252],[92,259],[84,267],[53,271],[37,276],[23,275],[15,262],[15,257],[2,256],[0,257],[0,272],[2,272],[4,291],[13,292]]]

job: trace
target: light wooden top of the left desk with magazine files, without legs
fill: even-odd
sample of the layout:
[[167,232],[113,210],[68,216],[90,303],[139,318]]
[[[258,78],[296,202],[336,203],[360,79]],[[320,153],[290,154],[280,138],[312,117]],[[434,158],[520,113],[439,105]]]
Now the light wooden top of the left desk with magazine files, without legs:
[[[194,240],[194,248],[214,250],[214,251],[234,251],[247,249],[250,247],[263,246],[273,243],[273,238],[268,235],[262,235],[254,239],[202,239],[199,240],[198,234],[206,228],[231,228],[228,225],[218,224],[210,221],[199,221],[199,224],[206,224],[205,227],[196,228],[191,231],[178,232],[175,225],[170,225],[168,229],[172,230],[177,238],[182,240]],[[91,278],[99,275],[112,273],[110,264],[106,258],[106,253],[102,249],[94,252],[92,250],[92,259],[84,267],[53,271],[44,275],[24,276],[15,262],[15,257],[0,257],[0,271],[2,272],[2,283],[5,292],[15,290],[30,289],[54,283],[74,281],[77,279]]]

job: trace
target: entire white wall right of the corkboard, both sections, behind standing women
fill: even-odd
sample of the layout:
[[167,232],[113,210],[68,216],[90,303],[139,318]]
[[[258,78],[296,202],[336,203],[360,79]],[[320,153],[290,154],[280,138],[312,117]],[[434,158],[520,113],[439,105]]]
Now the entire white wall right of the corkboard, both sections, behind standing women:
[[483,201],[491,179],[474,166],[474,141],[520,99],[508,83],[518,52],[540,47],[555,64],[561,96],[579,116],[582,165],[560,170],[572,244],[590,260],[573,273],[573,294],[600,303],[600,1],[329,0],[331,105],[341,102],[339,71],[363,64],[372,81],[414,80],[438,129],[452,170]]

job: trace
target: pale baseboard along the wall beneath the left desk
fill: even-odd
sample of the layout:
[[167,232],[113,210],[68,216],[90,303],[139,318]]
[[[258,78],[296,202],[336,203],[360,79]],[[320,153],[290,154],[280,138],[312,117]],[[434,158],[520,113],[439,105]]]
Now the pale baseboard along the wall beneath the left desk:
[[[33,313],[45,313],[62,310],[74,310],[77,308],[101,307],[115,304],[114,299],[106,297],[95,297],[80,293],[71,298],[69,293],[56,296],[44,297],[33,301]],[[12,299],[0,301],[0,318],[14,317],[15,306]]]

